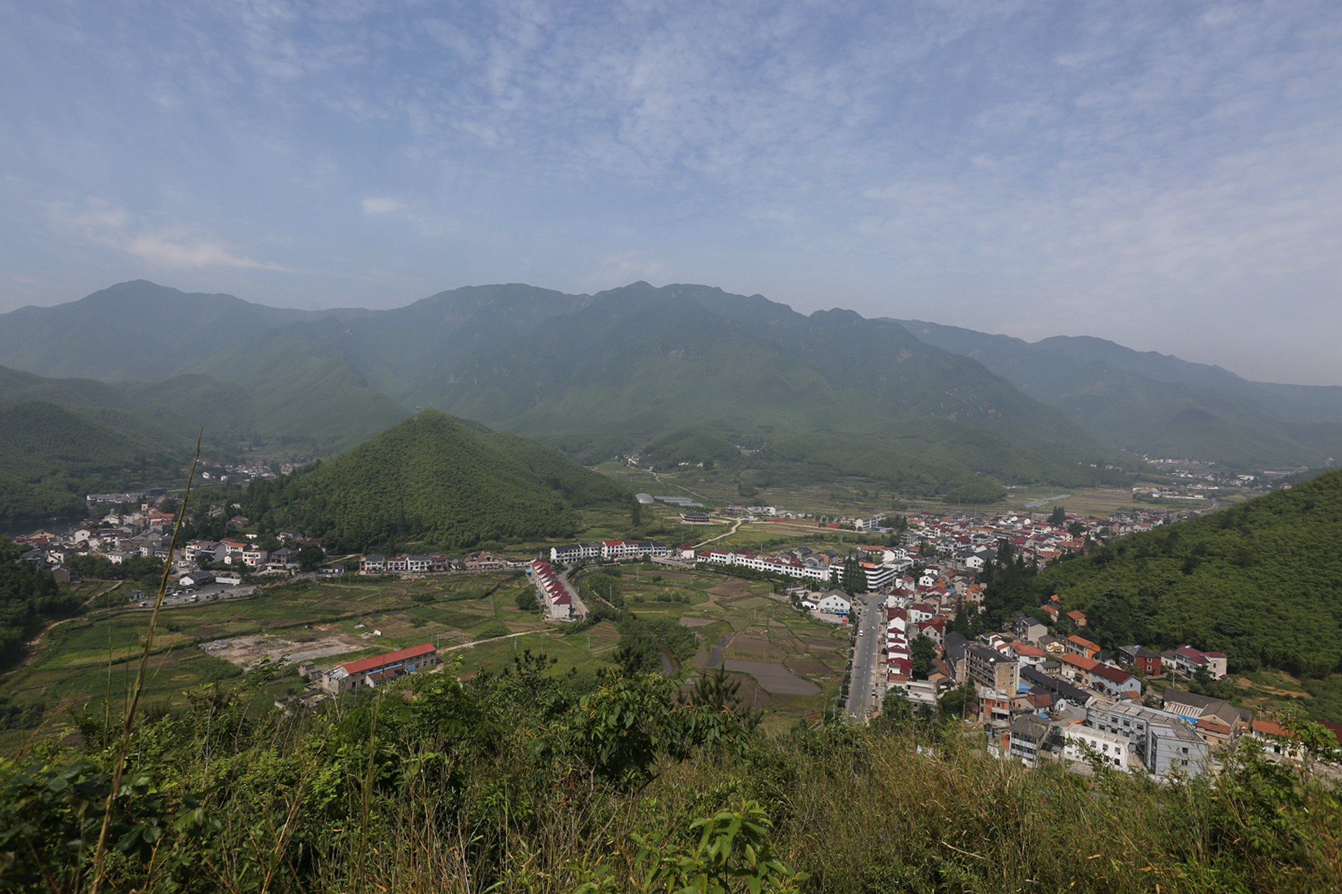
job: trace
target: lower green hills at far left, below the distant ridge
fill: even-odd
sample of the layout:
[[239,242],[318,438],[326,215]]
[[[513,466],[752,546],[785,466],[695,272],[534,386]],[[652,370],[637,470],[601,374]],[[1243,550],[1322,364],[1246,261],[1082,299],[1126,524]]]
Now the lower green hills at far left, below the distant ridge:
[[85,495],[177,481],[203,436],[224,461],[283,442],[326,454],[405,410],[340,357],[238,348],[221,367],[161,382],[56,379],[0,366],[0,523],[79,513]]

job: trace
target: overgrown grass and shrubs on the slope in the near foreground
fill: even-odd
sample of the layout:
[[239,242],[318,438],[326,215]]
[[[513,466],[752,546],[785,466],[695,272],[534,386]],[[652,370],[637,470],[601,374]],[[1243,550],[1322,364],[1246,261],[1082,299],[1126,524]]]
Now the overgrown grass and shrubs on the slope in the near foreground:
[[[285,717],[254,670],[0,764],[0,889],[42,891],[1325,891],[1342,800],[1245,752],[1155,785],[1021,769],[949,725],[765,736],[612,665],[577,694],[522,654]],[[914,736],[921,736],[915,740]],[[922,749],[918,747],[922,745]]]

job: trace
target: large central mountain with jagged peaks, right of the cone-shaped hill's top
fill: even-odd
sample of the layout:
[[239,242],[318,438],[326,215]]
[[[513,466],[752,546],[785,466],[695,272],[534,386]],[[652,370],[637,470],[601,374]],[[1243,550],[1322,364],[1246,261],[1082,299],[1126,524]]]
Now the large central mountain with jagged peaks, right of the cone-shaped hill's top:
[[743,445],[757,461],[930,489],[973,473],[1090,483],[1096,472],[1082,464],[1110,454],[1062,413],[898,324],[803,316],[702,285],[603,292],[447,367],[416,399],[569,449],[652,444],[654,456],[702,461]]

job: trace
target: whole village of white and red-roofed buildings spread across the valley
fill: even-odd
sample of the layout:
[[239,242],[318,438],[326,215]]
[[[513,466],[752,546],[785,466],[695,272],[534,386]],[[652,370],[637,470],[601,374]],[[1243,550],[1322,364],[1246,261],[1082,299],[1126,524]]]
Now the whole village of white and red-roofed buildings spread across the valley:
[[[78,568],[90,567],[90,559],[122,566],[168,558],[174,520],[165,511],[169,497],[91,495],[89,503],[98,505],[109,496],[123,507],[127,499],[140,505],[107,512],[66,532],[43,529],[15,537],[27,547],[21,560],[47,567],[58,582],[68,583],[78,579]],[[914,712],[929,712],[947,692],[969,686],[969,718],[984,730],[988,751],[1031,765],[1060,760],[1086,767],[1099,760],[1158,779],[1198,775],[1212,769],[1216,753],[1241,736],[1263,740],[1270,753],[1299,756],[1275,720],[1256,718],[1224,700],[1177,686],[1181,681],[1224,678],[1227,658],[1220,653],[1194,645],[1153,653],[1135,643],[1104,651],[1084,637],[1084,614],[1063,610],[1059,596],[1029,615],[1015,617],[1008,629],[973,638],[961,631],[982,609],[980,572],[1001,550],[1044,566],[1091,543],[1165,524],[1170,515],[1164,511],[1137,509],[1106,519],[1056,512],[817,517],[774,505],[729,505],[710,512],[687,499],[639,499],[680,511],[687,531],[723,521],[792,521],[815,524],[817,531],[860,532],[883,543],[754,551],[713,543],[722,537],[678,547],[607,539],[554,544],[548,556],[425,552],[329,559],[321,540],[297,531],[266,537],[271,548],[264,548],[262,537],[247,529],[247,520],[234,516],[231,536],[188,540],[172,555],[174,579],[168,600],[196,602],[205,594],[227,598],[254,592],[267,580],[301,575],[415,578],[513,571],[527,575],[545,619],[572,622],[585,618],[588,606],[568,579],[570,570],[627,562],[717,570],[776,579],[786,584],[781,595],[798,611],[855,630],[851,694],[844,709],[851,722],[866,722],[899,700],[907,700]],[[220,513],[223,507],[207,511]],[[130,592],[127,599],[150,604],[142,591]],[[868,634],[872,641],[863,641]],[[919,650],[931,659],[918,662],[915,673]],[[378,686],[440,663],[437,650],[420,643],[333,667],[306,661],[299,672],[310,682],[311,697],[321,698]],[[1151,682],[1159,684],[1158,694]],[[1342,739],[1342,728],[1333,732]]]

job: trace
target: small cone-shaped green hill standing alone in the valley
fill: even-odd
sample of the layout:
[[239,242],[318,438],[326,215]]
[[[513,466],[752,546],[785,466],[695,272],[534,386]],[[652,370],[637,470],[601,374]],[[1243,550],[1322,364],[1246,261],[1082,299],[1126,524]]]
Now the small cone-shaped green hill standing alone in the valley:
[[424,410],[290,478],[254,483],[244,509],[268,529],[294,527],[337,551],[459,550],[570,536],[576,507],[628,499],[541,444]]

